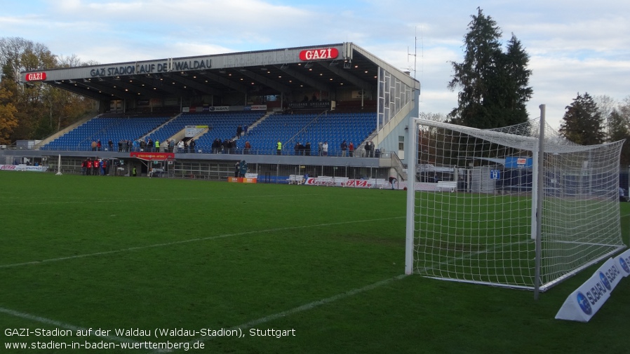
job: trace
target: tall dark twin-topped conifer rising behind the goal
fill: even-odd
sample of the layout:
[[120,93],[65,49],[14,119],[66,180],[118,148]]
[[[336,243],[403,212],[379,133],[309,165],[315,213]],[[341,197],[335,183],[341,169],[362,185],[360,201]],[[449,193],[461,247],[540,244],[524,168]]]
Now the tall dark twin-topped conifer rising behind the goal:
[[452,123],[474,128],[500,128],[528,120],[525,103],[532,96],[528,86],[529,55],[512,34],[504,53],[497,22],[481,8],[471,16],[464,36],[464,61],[451,62],[450,90],[462,88],[458,107],[450,112]]

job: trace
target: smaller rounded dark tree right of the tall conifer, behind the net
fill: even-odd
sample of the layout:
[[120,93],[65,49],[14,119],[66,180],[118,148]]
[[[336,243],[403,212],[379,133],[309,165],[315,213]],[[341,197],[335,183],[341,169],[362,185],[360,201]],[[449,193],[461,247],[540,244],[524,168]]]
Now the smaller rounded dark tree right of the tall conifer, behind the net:
[[560,134],[568,140],[581,145],[602,144],[605,142],[604,118],[597,109],[597,104],[588,93],[577,94],[572,104],[562,117]]

